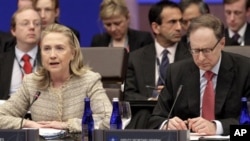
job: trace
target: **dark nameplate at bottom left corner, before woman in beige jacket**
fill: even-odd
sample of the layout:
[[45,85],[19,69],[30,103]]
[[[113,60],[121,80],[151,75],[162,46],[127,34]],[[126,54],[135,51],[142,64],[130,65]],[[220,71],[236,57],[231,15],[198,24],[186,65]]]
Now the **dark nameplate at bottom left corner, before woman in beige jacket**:
[[0,129],[0,141],[39,141],[38,129]]

